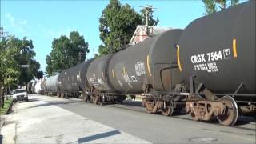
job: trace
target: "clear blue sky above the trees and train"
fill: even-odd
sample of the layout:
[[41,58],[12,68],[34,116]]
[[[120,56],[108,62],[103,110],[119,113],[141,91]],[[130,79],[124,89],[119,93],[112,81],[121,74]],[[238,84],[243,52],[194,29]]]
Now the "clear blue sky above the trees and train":
[[[14,1],[1,0],[1,26],[4,30],[14,34],[17,38],[27,37],[33,40],[35,59],[40,62],[41,70],[46,68],[46,55],[52,50],[53,38],[62,34],[70,34],[77,30],[86,42],[89,42],[90,53],[93,49],[98,52],[102,43],[99,38],[98,18],[109,1],[62,0],[62,1]],[[176,1],[121,1],[128,3],[137,12],[140,6],[153,5],[157,8],[154,17],[160,22],[158,26],[185,28],[195,18],[203,16],[205,12],[201,0]]]

